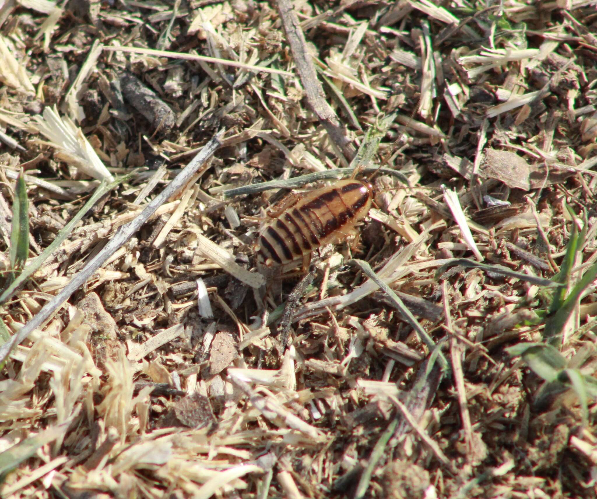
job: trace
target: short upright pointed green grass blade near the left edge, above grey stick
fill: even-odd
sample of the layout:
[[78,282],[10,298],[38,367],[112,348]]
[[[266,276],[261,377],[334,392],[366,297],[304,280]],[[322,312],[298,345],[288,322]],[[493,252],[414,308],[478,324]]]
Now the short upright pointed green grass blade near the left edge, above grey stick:
[[29,201],[21,171],[14,190],[13,225],[10,234],[10,264],[16,278],[29,256]]

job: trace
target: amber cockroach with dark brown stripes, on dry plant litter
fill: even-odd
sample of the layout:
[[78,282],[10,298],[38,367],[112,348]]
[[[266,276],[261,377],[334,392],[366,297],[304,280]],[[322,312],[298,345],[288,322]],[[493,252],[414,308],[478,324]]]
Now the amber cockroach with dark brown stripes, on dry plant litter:
[[263,227],[256,248],[259,262],[290,263],[346,239],[367,216],[372,201],[373,187],[359,180],[340,180],[307,193]]

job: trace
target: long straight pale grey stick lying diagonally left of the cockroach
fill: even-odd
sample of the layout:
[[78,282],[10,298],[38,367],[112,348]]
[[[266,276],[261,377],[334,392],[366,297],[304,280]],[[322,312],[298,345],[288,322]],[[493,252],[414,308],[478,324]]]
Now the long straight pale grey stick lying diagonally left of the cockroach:
[[10,351],[16,346],[17,344],[21,343],[24,339],[26,339],[29,334],[33,331],[33,329],[38,328],[41,326],[46,319],[48,319],[54,312],[56,312],[59,307],[70,298],[70,295],[73,294],[77,289],[81,288],[82,285],[87,282],[93,274],[96,272],[97,269],[101,267],[101,265],[110,257],[118,248],[124,245],[131,237],[133,237],[134,233],[137,232],[141,228],[141,226],[147,221],[147,219],[155,212],[155,210],[164,202],[173,195],[174,192],[177,192],[184,184],[189,181],[199,168],[207,161],[216,149],[220,146],[220,140],[216,136],[212,138],[207,144],[205,144],[204,148],[199,151],[199,153],[192,159],[192,161],[159,193],[152,201],[147,204],[143,211],[135,218],[131,223],[128,223],[125,226],[122,226],[118,232],[113,236],[110,241],[104,246],[103,249],[94,257],[92,258],[85,267],[79,272],[75,277],[73,277],[69,284],[64,287],[59,294],[56,295],[52,300],[48,301],[41,310],[35,315],[33,319],[31,319],[27,324],[25,324],[17,334],[13,336],[11,341],[5,343],[0,347],[0,363],[4,362],[4,360],[8,357]]

